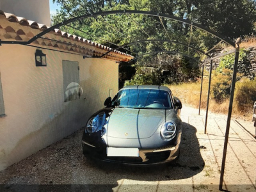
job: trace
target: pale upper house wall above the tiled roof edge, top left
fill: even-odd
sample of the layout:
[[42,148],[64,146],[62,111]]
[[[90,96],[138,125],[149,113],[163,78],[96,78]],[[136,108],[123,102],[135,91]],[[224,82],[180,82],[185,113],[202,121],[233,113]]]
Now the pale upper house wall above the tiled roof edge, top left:
[[0,10],[51,26],[49,0],[0,0]]

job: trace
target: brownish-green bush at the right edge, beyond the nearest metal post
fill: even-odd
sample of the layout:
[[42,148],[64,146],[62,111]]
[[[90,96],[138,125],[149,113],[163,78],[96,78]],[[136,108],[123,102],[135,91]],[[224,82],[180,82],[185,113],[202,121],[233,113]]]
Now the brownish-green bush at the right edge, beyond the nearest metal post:
[[235,105],[239,111],[252,109],[253,103],[256,101],[256,78],[254,80],[241,79],[236,83]]

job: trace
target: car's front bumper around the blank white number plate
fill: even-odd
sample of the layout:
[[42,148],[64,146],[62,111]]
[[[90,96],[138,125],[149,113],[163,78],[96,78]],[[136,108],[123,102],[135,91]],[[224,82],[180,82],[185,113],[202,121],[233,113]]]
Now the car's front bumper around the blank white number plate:
[[139,157],[108,157],[106,146],[97,147],[82,140],[83,154],[86,157],[99,159],[111,163],[122,163],[131,165],[162,164],[173,161],[179,156],[179,147],[166,146],[154,149],[139,149]]

